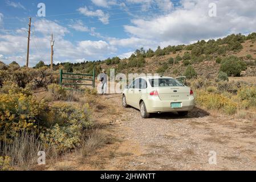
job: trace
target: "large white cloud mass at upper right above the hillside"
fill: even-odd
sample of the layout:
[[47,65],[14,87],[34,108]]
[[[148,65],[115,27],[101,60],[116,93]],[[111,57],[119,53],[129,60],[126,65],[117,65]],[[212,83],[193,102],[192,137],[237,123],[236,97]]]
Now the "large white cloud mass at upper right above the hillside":
[[[217,17],[208,15],[209,3],[217,4]],[[133,37],[172,43],[190,43],[218,38],[230,33],[256,31],[256,1],[183,0],[168,15],[152,20],[133,19],[133,26],[124,26]],[[193,6],[192,6],[193,5]]]

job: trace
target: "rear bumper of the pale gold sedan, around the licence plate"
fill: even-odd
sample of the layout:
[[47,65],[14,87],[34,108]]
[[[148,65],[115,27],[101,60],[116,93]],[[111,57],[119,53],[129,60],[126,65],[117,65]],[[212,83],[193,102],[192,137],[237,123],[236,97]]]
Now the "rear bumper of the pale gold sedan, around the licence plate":
[[[172,102],[181,102],[181,108],[172,108]],[[171,111],[190,111],[194,108],[194,96],[189,96],[188,100],[168,100],[161,101],[159,97],[148,98],[146,108],[148,113],[165,113]]]

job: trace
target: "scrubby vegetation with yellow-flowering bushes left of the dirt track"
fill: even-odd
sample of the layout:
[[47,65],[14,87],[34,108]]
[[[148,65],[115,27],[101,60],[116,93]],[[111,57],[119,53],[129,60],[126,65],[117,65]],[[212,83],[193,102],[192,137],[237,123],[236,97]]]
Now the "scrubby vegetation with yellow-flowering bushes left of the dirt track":
[[80,150],[94,130],[90,105],[96,91],[64,90],[58,72],[41,65],[1,63],[0,170],[33,169],[39,151],[54,162]]

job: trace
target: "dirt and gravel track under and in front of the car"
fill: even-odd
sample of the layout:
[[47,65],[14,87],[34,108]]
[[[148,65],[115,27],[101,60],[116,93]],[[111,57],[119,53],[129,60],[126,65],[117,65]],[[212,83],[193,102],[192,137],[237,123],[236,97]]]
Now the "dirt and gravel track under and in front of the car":
[[[116,106],[122,117],[111,122],[121,142],[104,169],[256,169],[253,121],[238,121],[198,108],[183,118],[166,113],[142,119],[138,110],[121,107],[121,96],[105,100]],[[216,151],[217,165],[209,164],[210,151]]]

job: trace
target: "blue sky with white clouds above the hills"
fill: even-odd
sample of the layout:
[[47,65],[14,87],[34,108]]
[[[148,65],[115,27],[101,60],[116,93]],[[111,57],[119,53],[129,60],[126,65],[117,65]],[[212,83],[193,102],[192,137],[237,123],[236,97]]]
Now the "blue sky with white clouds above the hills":
[[[46,5],[39,17],[38,3]],[[216,5],[216,16],[209,16]],[[189,44],[231,33],[256,31],[254,0],[43,0],[0,1],[0,60],[24,65],[27,23],[32,16],[30,66],[128,57],[136,49]]]

